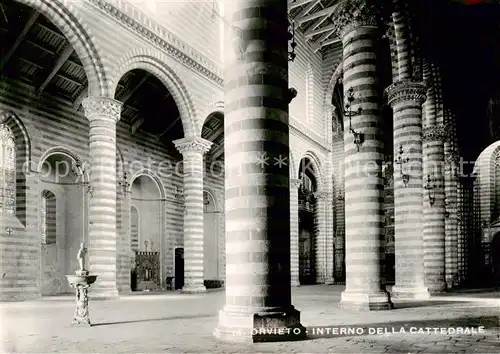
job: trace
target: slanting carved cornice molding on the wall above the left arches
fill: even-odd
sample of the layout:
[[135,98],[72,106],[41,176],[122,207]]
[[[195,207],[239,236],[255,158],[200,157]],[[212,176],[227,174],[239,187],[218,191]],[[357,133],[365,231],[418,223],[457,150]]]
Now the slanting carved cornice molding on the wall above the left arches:
[[[190,67],[193,71],[207,77],[219,86],[223,84],[222,69],[214,62],[206,58],[199,51],[186,44],[158,22],[142,14],[139,10],[132,13],[122,2],[117,6],[105,0],[86,0],[97,7],[109,17],[119,21],[122,25],[142,38],[162,48],[168,55]],[[129,4],[126,4],[129,5]],[[131,5],[129,5],[131,6]],[[140,13],[143,16],[137,16]],[[135,16],[134,16],[135,15]],[[147,21],[145,21],[147,19]]]

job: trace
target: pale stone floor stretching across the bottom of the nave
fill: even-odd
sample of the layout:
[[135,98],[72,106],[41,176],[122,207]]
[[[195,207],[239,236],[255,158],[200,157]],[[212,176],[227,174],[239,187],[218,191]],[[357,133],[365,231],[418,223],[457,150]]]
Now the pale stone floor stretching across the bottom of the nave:
[[[500,292],[453,294],[392,311],[338,308],[343,286],[293,289],[309,338],[299,342],[218,342],[212,331],[223,292],[123,296],[93,301],[90,328],[71,327],[73,297],[1,303],[4,353],[494,353],[500,348]],[[329,330],[325,328],[327,326]],[[484,326],[484,331],[482,327]],[[409,333],[415,328],[467,329],[471,334]],[[319,328],[319,329],[318,329]],[[350,328],[363,334],[340,334]],[[371,334],[376,331],[389,332]],[[406,333],[399,332],[403,328]],[[323,329],[324,333],[318,331]],[[331,331],[327,335],[326,331]],[[433,330],[432,330],[433,331]],[[451,330],[450,330],[451,331]],[[476,333],[476,332],[481,333]],[[334,333],[335,332],[335,333]]]

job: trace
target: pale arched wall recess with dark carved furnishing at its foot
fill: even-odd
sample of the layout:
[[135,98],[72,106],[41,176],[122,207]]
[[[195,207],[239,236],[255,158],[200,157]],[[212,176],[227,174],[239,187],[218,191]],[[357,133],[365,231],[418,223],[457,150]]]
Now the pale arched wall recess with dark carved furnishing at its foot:
[[[136,236],[132,234],[134,233],[132,229],[129,246],[131,251],[135,251],[131,288],[139,291],[158,290],[164,286],[167,268],[164,264],[167,242],[165,239],[165,188],[155,173],[142,169],[130,178],[129,191],[131,206],[133,206],[129,210],[129,220],[133,222],[136,217],[137,221]],[[132,243],[135,243],[133,237],[137,237],[137,246]],[[125,274],[124,271],[123,274]]]

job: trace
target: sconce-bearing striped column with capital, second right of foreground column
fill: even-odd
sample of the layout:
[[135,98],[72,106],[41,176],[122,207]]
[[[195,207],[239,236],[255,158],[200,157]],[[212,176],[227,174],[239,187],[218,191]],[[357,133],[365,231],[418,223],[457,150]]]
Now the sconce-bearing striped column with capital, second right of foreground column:
[[[398,81],[386,90],[394,111],[394,232],[396,282],[392,295],[398,299],[425,299],[424,242],[422,238],[423,156],[422,83]],[[399,151],[403,148],[403,155]],[[404,163],[398,164],[398,158]],[[408,159],[408,162],[406,162]],[[403,174],[409,176],[408,184]]]

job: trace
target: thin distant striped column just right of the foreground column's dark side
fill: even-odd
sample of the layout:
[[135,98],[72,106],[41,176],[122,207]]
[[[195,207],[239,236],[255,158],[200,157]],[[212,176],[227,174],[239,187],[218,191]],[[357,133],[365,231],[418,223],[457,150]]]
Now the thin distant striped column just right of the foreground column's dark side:
[[290,284],[299,282],[299,187],[301,180],[290,179]]

